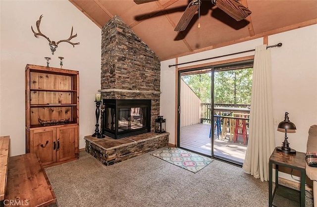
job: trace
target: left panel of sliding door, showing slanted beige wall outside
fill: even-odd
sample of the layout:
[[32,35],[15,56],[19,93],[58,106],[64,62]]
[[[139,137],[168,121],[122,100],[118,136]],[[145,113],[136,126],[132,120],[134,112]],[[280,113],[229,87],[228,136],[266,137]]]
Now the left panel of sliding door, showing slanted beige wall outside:
[[211,69],[180,72],[178,83],[178,146],[211,155]]

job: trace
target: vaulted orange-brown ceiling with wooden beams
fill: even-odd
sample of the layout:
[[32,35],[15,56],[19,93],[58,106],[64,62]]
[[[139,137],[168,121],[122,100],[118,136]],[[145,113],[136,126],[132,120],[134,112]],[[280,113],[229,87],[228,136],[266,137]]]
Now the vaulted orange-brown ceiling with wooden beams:
[[[211,50],[303,26],[317,24],[316,0],[240,0],[252,14],[236,21],[202,0],[185,31],[174,28],[189,0],[158,0],[136,4],[133,0],[69,0],[102,28],[119,16],[160,60]],[[305,38],[305,37],[294,37]]]

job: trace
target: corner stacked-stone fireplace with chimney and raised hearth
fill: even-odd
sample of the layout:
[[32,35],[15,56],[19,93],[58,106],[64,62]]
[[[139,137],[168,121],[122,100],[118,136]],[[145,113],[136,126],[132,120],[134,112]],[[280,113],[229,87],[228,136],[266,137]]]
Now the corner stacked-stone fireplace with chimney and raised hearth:
[[[114,16],[102,29],[99,92],[106,106],[103,134],[107,136],[85,136],[86,152],[111,165],[167,146],[169,133],[154,132],[159,81],[158,56]],[[124,131],[128,133],[124,135]]]

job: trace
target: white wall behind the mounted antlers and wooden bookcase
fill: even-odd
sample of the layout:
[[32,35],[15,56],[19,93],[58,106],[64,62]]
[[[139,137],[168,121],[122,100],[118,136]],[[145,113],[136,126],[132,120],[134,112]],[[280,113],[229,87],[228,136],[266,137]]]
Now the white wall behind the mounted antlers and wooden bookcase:
[[[55,54],[48,41],[34,37],[31,25],[43,14],[40,29],[52,41],[67,39],[71,27],[80,42],[73,48],[60,43]],[[65,57],[63,68],[79,71],[79,147],[83,137],[94,133],[95,93],[100,89],[101,29],[67,0],[0,0],[0,136],[10,135],[10,155],[25,153],[25,66],[59,67],[58,56]]]

